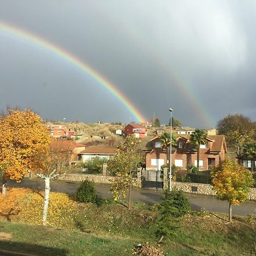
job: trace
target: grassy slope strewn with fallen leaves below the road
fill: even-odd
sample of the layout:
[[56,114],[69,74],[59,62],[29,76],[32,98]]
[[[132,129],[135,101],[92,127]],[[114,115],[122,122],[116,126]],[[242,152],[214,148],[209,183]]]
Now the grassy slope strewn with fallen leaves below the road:
[[[102,200],[97,207],[51,192],[48,226],[41,226],[42,195],[13,188],[7,197],[0,196],[0,249],[38,255],[131,255],[134,245],[156,246],[159,239],[157,205],[134,203],[129,211],[122,201]],[[225,214],[195,211],[181,219],[177,232],[164,238],[160,248],[168,256],[250,255],[253,220],[234,217],[228,224]],[[13,237],[1,240],[1,232]]]

